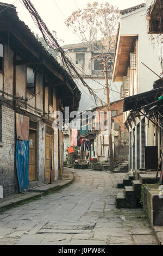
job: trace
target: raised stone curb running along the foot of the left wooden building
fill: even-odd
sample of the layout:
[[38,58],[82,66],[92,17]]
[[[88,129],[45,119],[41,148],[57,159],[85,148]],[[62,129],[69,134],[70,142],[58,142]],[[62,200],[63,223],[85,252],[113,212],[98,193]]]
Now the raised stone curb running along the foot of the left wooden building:
[[71,172],[67,173],[70,175],[70,178],[68,180],[57,181],[59,184],[49,184],[46,186],[40,186],[34,189],[30,189],[26,194],[22,196],[18,198],[11,198],[9,200],[5,200],[4,202],[1,202],[0,199],[0,214],[24,202],[28,203],[30,200],[40,198],[41,196],[46,196],[48,193],[59,191],[61,190],[61,188],[72,184],[72,182],[74,181],[74,175]]

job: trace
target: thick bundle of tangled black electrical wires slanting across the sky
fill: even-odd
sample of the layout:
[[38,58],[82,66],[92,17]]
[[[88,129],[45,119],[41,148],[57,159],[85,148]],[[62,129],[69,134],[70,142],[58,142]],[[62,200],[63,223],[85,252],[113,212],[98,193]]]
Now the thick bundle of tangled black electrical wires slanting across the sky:
[[[93,92],[93,89],[87,85],[87,83],[84,81],[82,76],[80,76],[79,72],[77,71],[74,64],[70,61],[70,59],[66,56],[64,50],[60,47],[58,44],[58,41],[54,38],[52,33],[47,28],[46,24],[42,21],[39,13],[37,13],[34,5],[30,2],[30,0],[22,0],[23,5],[27,8],[27,10],[30,13],[30,16],[32,17],[35,25],[40,29],[43,38],[45,39],[47,45],[52,48],[53,50],[57,50],[61,54],[62,63],[64,66],[66,66],[66,69],[68,72],[73,76],[74,74],[79,77],[80,81],[83,83],[84,87],[86,87],[89,90],[89,93],[94,97],[96,105],[97,102],[101,102],[102,106],[105,105],[105,102],[101,100],[95,92]],[[74,72],[74,74],[73,74]]]

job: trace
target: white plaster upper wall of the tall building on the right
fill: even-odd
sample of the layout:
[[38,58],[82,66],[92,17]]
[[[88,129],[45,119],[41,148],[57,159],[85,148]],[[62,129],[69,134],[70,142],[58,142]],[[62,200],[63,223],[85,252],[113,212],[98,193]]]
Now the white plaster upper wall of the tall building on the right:
[[138,51],[139,51],[139,93],[146,92],[153,88],[153,82],[159,77],[148,70],[141,62],[145,63],[149,68],[160,75],[161,65],[159,60],[159,44],[155,39],[154,47],[147,31],[146,11],[151,4],[151,0],[147,1],[146,7],[137,11],[133,11],[127,15],[121,15],[121,35],[138,35]]

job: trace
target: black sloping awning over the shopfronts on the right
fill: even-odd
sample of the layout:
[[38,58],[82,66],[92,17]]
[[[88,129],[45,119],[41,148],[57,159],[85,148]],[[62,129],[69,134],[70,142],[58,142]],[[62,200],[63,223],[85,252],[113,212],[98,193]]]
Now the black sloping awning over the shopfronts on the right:
[[124,98],[123,112],[141,108],[149,103],[158,100],[158,97],[163,93],[163,87],[150,90],[149,92],[133,95]]

